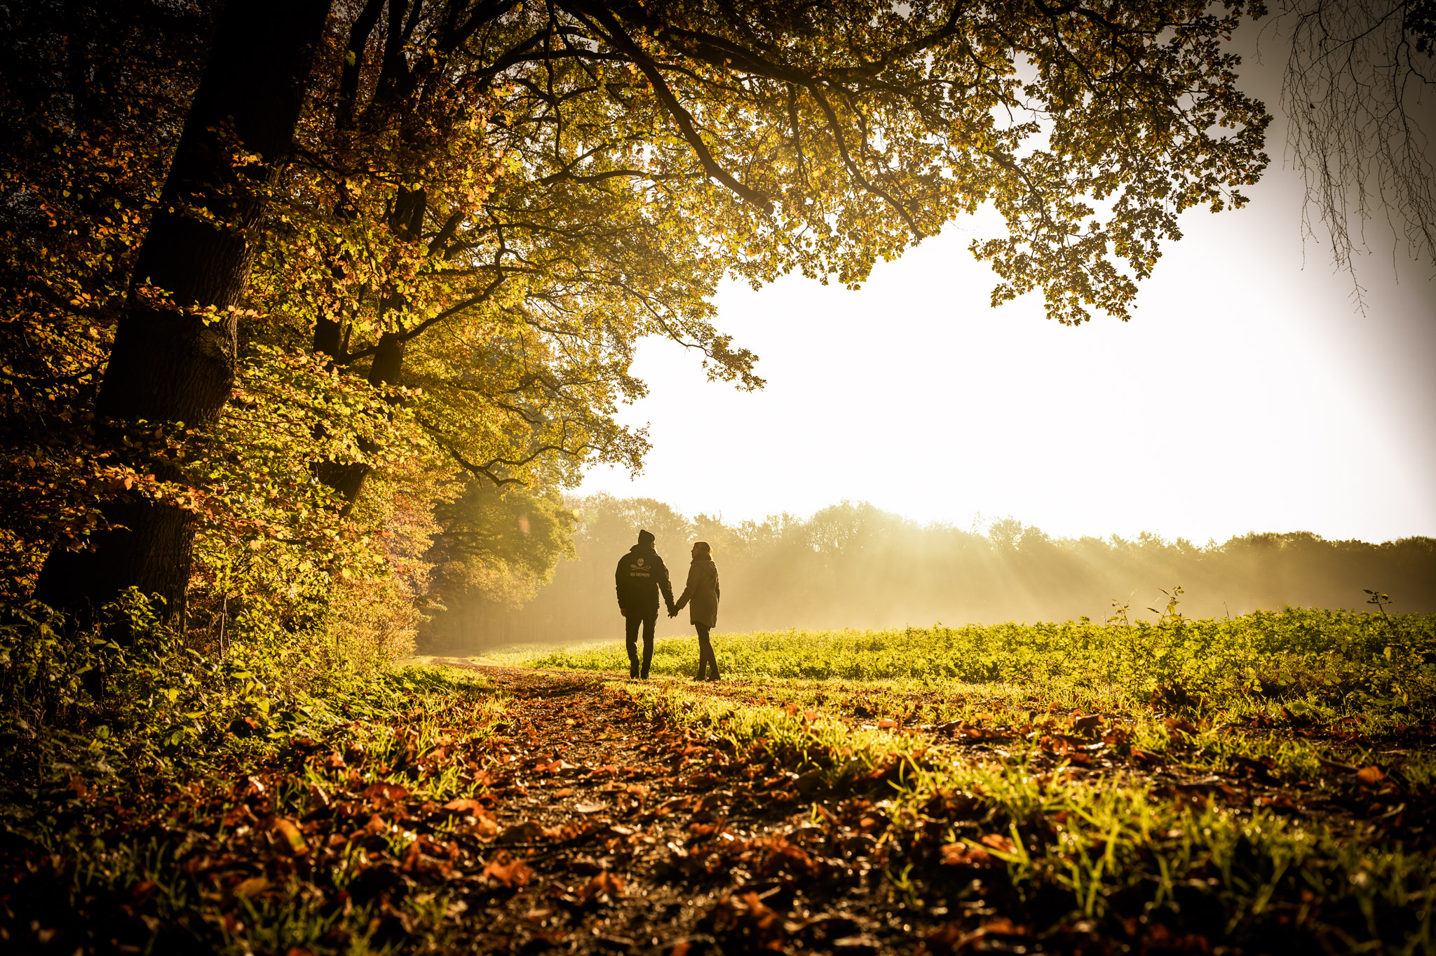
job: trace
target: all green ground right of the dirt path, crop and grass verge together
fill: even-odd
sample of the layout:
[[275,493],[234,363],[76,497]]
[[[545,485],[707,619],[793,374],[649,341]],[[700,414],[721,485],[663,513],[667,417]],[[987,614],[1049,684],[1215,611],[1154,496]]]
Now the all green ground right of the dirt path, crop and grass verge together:
[[[718,683],[668,639],[625,683],[771,755],[814,818],[889,781],[887,874],[915,906],[1002,896],[1024,933],[1076,914],[1139,950],[1436,952],[1436,616],[1169,611],[722,634]],[[628,670],[620,640],[521,660]]]

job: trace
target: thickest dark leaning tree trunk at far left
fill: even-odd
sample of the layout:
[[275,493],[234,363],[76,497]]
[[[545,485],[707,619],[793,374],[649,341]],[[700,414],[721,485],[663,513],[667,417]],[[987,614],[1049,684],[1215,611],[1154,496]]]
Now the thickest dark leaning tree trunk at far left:
[[[135,419],[214,422],[230,398],[236,316],[225,310],[248,284],[269,187],[290,154],[329,3],[233,0],[220,19],[99,392],[101,421],[116,439]],[[207,322],[197,310],[208,307],[218,313]],[[190,514],[136,497],[112,502],[105,515],[123,528],[99,534],[90,551],[53,551],[36,597],[93,609],[136,586],[165,600],[169,620],[182,620]]]

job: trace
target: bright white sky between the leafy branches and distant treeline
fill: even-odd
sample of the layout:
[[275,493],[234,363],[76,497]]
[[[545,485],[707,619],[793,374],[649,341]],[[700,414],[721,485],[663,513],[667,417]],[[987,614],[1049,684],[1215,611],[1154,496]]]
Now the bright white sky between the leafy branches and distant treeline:
[[1186,214],[1130,323],[1060,326],[1035,296],[989,307],[995,277],[966,251],[998,233],[982,218],[859,291],[725,286],[718,326],[758,353],[767,388],[707,382],[682,347],[646,340],[651,395],[622,415],[649,425],[646,467],[595,469],[579,492],[729,522],[852,500],[1054,537],[1436,535],[1436,281],[1404,250],[1397,277],[1373,238],[1357,313],[1328,247],[1302,248],[1282,138],[1274,123],[1245,210]]

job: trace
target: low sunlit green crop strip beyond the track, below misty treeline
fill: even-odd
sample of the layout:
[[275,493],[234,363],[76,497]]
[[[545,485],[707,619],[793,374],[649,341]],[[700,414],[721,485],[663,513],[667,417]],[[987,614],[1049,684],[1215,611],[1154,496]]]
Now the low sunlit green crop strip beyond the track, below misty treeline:
[[[1288,607],[1190,620],[1175,601],[1159,623],[1090,620],[900,630],[788,630],[714,637],[735,679],[905,680],[1017,686],[1109,703],[1265,708],[1331,719],[1436,716],[1436,614]],[[533,667],[626,670],[620,642],[527,659]],[[698,669],[694,639],[663,639],[652,673]]]

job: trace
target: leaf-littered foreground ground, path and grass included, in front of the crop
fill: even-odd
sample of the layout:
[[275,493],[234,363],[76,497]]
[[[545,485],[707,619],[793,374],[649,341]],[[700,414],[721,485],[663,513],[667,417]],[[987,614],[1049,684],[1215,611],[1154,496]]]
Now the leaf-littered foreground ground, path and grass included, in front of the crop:
[[[1430,788],[1376,764],[1317,782],[1269,758],[1193,764],[1196,723],[1169,718],[1166,745],[1146,749],[1116,709],[992,700],[938,721],[938,693],[794,702],[763,683],[482,672],[500,711],[425,735],[401,721],[406,745],[382,756],[294,739],[230,779],[128,804],[92,795],[75,823],[112,847],[113,878],[7,847],[4,942],[1198,953],[1350,952],[1429,932]],[[1109,820],[1130,810],[1111,802],[1123,794],[1150,804],[1123,824],[1142,838]],[[1203,843],[1213,824],[1231,845]],[[1318,834],[1333,825],[1351,835]],[[154,878],[113,866],[144,848]]]

